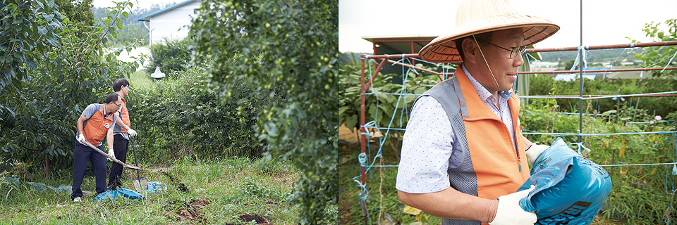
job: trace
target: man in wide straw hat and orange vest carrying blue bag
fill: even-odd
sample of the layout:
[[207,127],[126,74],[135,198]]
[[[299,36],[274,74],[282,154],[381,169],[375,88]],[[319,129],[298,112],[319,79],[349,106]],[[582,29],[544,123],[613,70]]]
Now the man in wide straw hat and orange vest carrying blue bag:
[[[559,26],[519,15],[507,0],[466,0],[456,28],[419,52],[422,60],[461,63],[453,77],[417,98],[404,134],[398,197],[442,224],[534,224],[516,192],[548,146],[520,131],[512,93],[521,53]],[[527,161],[528,160],[528,161]],[[532,186],[533,188],[533,186]]]

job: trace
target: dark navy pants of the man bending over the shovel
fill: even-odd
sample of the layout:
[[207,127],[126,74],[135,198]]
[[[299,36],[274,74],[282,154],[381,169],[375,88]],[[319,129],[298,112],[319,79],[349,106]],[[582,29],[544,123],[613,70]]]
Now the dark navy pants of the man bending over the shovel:
[[[103,145],[97,148],[104,150]],[[87,162],[91,162],[92,167],[94,167],[94,176],[97,178],[97,195],[107,190],[106,157],[89,146],[75,141],[75,148],[73,149],[73,193],[71,193],[71,199],[83,196],[83,190],[80,189],[80,186],[83,185]]]

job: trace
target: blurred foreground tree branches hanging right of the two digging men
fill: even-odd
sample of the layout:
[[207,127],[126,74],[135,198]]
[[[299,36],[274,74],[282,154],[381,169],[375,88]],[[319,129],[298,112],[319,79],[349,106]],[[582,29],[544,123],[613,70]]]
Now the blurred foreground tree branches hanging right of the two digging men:
[[302,223],[321,223],[338,202],[338,1],[205,0],[198,11],[195,62],[213,60],[210,88],[255,89],[267,157],[303,171],[293,201]]

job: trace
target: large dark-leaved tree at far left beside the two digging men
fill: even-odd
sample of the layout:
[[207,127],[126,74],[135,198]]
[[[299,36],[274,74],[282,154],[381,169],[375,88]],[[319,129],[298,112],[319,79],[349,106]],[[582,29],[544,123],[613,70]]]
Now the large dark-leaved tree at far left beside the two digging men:
[[[10,46],[16,43],[24,46],[15,48],[23,53],[15,51],[10,56],[13,67],[20,68],[22,73],[13,77],[5,89],[0,89],[0,105],[4,105],[0,108],[0,170],[8,169],[14,162],[23,162],[29,171],[45,165],[49,176],[50,167],[64,169],[72,165],[75,121],[80,113],[90,103],[102,103],[112,92],[113,80],[138,68],[140,61],[123,63],[115,57],[119,51],[102,51],[107,41],[105,34],[110,32],[111,38],[116,36],[115,27],[120,26],[118,17],[124,13],[109,13],[102,21],[109,25],[106,27],[85,25],[92,32],[82,38],[68,18],[57,23],[61,18],[56,16],[61,13],[54,1],[25,6],[21,11],[25,14],[15,15],[16,6],[20,4],[10,3],[3,8],[4,15],[13,14],[2,18],[0,23],[0,34],[12,37]],[[130,6],[118,3],[116,9],[122,12]],[[33,28],[35,36],[31,30],[28,35],[12,36],[12,32],[25,29],[23,25],[18,28],[12,25],[30,25],[27,18],[34,18],[39,25]],[[44,41],[45,37],[44,44],[49,46],[32,43]],[[37,47],[27,49],[27,44]],[[7,70],[1,71],[6,75]],[[11,71],[8,73],[11,75]]]

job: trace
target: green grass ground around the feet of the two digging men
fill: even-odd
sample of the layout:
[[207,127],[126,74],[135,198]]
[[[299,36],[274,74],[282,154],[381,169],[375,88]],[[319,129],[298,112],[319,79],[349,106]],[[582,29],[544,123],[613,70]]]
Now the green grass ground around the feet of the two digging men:
[[[42,179],[42,174],[14,174],[23,177],[18,188],[0,180],[0,224],[238,224],[241,214],[264,217],[272,224],[299,223],[298,207],[288,203],[298,179],[291,165],[247,158],[218,162],[187,158],[170,167],[142,167],[142,176],[166,184],[167,190],[147,194],[145,200],[96,203],[92,201],[94,177],[85,176],[83,191],[92,193],[73,203],[70,190],[32,191],[25,181],[35,176],[37,183],[71,185],[71,172],[56,172],[50,179]],[[123,176],[123,187],[133,190],[136,172],[125,169]],[[179,183],[188,191],[180,191]]]

